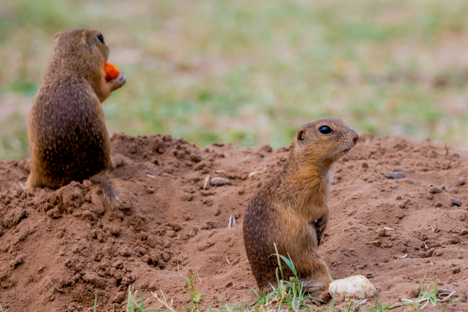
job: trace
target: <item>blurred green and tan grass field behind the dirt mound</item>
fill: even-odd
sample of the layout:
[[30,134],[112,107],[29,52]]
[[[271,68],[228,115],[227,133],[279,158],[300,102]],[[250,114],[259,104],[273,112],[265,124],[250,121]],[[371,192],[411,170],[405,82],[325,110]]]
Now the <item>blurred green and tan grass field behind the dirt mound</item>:
[[29,156],[53,35],[83,27],[128,77],[110,134],[277,148],[330,116],[468,147],[467,17],[461,0],[0,0],[0,158]]

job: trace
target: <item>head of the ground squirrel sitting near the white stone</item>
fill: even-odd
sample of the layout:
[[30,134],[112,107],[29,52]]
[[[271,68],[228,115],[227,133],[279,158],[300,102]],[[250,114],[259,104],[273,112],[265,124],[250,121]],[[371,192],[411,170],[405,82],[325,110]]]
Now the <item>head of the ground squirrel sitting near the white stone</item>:
[[291,157],[327,168],[348,153],[358,140],[358,132],[341,119],[312,121],[300,127],[294,135]]

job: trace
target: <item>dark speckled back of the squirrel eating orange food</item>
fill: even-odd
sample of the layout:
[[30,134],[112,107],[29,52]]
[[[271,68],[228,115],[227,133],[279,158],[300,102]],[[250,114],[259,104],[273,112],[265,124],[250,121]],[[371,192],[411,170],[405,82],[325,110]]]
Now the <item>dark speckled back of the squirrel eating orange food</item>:
[[44,186],[58,188],[112,167],[101,104],[89,85],[78,85],[39,90],[31,108],[31,149]]

